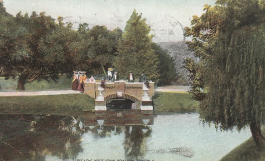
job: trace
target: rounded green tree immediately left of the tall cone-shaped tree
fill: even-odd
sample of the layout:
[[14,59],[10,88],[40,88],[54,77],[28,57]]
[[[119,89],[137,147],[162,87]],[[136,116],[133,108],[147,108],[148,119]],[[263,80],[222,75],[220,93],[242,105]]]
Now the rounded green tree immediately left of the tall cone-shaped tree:
[[[78,33],[82,38],[78,50],[80,66],[89,73],[99,74],[112,66],[116,44],[121,38],[122,31],[116,28],[109,31],[105,26],[94,26],[90,30],[87,24],[80,24]],[[101,71],[101,72],[100,72]]]

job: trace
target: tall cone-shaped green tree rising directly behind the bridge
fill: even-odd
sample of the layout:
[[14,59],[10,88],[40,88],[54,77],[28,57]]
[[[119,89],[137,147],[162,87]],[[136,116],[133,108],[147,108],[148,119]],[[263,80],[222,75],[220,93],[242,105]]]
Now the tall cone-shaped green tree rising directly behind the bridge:
[[153,35],[149,34],[150,30],[146,19],[142,19],[142,14],[138,15],[134,10],[117,45],[114,66],[120,75],[125,76],[130,71],[134,74],[145,72],[149,80],[159,78],[159,59],[152,48]]

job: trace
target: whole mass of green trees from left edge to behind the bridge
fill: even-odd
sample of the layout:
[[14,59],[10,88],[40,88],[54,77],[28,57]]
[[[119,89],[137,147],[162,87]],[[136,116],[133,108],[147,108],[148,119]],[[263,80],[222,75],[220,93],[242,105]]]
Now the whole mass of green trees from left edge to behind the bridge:
[[[56,81],[59,74],[70,76],[74,70],[101,77],[108,67],[121,77],[129,71],[136,76],[145,72],[149,80],[161,80],[162,85],[170,84],[175,74],[174,60],[152,42],[150,27],[136,11],[124,33],[98,25],[89,29],[87,23],[75,31],[72,23],[63,23],[63,17],[56,21],[43,12],[13,17],[3,3],[0,20],[0,76],[18,78],[17,90],[25,90],[25,84],[35,80]],[[160,73],[165,68],[169,73]]]

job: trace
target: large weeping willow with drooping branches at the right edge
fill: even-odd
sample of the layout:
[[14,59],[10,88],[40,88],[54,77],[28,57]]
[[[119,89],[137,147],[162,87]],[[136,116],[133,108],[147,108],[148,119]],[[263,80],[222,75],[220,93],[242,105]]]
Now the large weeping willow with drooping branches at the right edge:
[[260,131],[265,121],[264,34],[261,24],[219,36],[205,74],[209,92],[200,104],[204,120],[224,130],[249,125],[259,145],[265,140]]

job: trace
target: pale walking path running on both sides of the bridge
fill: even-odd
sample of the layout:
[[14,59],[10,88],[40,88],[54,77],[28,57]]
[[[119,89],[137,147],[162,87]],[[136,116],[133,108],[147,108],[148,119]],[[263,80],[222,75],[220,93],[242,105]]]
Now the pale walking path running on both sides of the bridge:
[[[158,92],[188,92],[188,86],[166,86],[158,87]],[[61,90],[61,91],[31,91],[31,92],[0,92],[0,96],[37,96],[37,95],[63,95],[63,94],[81,94],[79,91]]]

